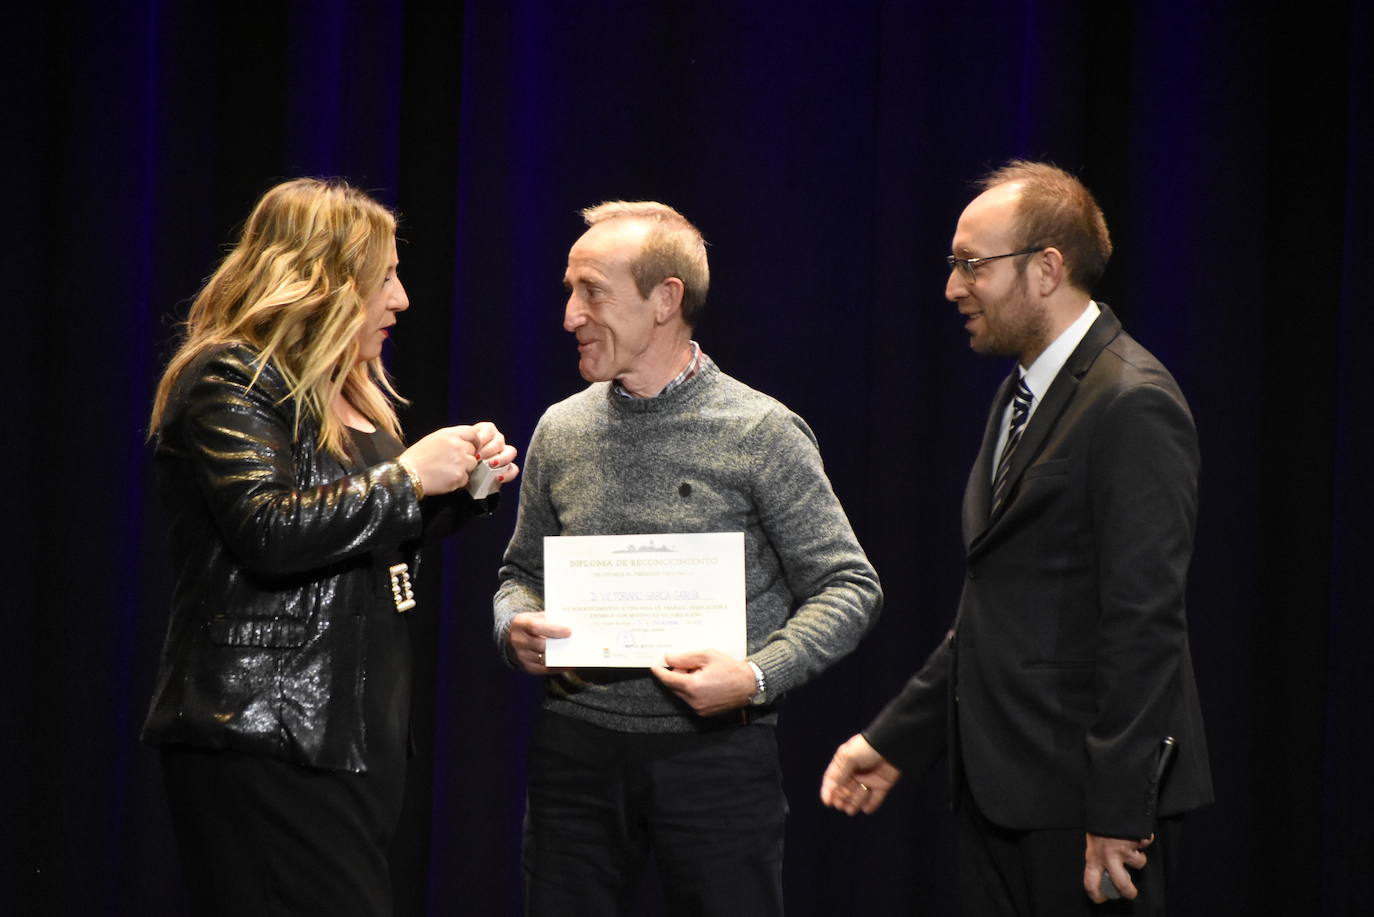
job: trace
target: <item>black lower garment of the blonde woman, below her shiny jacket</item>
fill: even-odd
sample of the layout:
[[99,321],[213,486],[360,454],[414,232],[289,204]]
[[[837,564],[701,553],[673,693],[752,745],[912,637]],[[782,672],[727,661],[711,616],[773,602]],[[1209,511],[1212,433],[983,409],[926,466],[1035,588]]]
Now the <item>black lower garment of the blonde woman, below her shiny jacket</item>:
[[195,917],[390,917],[404,770],[169,745],[162,780]]

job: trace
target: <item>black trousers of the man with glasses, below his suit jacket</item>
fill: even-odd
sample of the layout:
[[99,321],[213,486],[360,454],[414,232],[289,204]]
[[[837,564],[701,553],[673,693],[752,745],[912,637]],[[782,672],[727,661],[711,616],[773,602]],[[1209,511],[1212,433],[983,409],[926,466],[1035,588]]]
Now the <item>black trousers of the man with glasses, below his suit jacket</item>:
[[1183,818],[1156,822],[1145,869],[1129,870],[1139,896],[1094,905],[1083,890],[1081,828],[1011,830],[992,824],[965,786],[956,804],[959,898],[966,917],[1072,914],[1162,917],[1175,872]]

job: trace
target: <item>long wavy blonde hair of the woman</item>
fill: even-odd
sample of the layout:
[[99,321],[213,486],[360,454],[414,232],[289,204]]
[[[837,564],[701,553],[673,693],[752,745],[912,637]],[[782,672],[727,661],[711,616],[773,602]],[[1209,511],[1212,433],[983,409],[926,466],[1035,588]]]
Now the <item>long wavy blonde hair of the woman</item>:
[[390,268],[396,217],[344,181],[295,179],[262,195],[243,235],[205,282],[177,352],[153,401],[150,434],[158,430],[177,377],[201,353],[247,344],[271,362],[302,414],[320,425],[320,447],[345,456],[344,423],[330,410],[344,397],[372,423],[400,439],[393,401],[404,401],[382,360],[357,362],[364,304]]

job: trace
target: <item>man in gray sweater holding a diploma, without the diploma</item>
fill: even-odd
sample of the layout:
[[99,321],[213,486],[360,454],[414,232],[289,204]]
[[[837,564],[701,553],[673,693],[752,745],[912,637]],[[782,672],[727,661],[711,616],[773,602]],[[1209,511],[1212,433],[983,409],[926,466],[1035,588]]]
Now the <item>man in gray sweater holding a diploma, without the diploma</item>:
[[[583,213],[563,327],[592,382],[534,430],[496,593],[496,641],[545,678],[530,740],[526,910],[617,914],[650,851],[672,913],[780,914],[778,701],[853,649],[878,577],[807,423],[691,340],[709,285],[672,208]],[[548,535],[742,532],[746,659],[702,646],[653,670],[552,671]]]

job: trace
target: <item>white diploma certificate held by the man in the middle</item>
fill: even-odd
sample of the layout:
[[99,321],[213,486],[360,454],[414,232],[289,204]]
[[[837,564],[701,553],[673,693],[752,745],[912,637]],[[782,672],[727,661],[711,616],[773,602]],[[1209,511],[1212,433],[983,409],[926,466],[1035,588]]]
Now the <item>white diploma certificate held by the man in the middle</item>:
[[694,649],[743,659],[745,535],[544,538],[544,613],[573,631],[547,642],[547,665],[639,668]]

